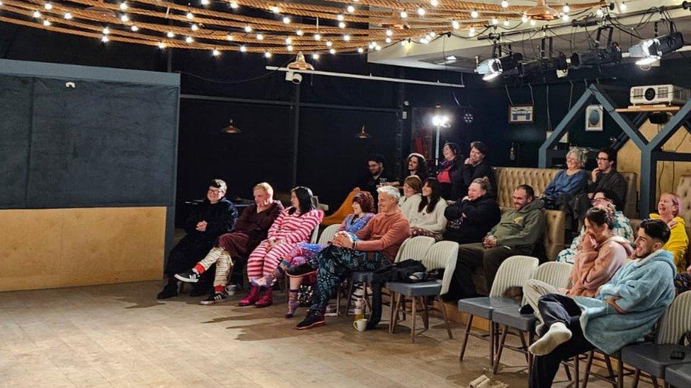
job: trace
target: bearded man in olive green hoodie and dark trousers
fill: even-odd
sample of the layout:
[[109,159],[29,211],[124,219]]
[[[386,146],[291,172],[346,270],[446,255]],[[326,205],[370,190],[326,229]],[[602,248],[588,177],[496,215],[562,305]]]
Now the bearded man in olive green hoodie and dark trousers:
[[544,235],[544,204],[535,199],[535,192],[521,184],[513,192],[513,210],[506,211],[484,240],[464,244],[458,249],[458,261],[445,300],[476,296],[473,271],[484,269],[487,289],[491,290],[496,271],[508,257],[517,254],[531,256]]

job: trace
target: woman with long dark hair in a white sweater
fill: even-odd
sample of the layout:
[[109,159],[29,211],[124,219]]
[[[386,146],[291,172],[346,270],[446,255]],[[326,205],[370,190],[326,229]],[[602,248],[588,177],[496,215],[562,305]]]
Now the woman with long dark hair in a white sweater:
[[430,236],[442,240],[447,219],[444,211],[448,206],[441,197],[442,185],[436,178],[427,178],[422,186],[422,201],[409,218],[411,236]]

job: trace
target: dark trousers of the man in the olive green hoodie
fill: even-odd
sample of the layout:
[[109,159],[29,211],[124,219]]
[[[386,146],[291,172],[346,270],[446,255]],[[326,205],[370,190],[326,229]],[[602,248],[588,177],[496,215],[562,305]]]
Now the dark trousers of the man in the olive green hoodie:
[[508,247],[494,247],[487,249],[481,242],[460,245],[458,248],[458,261],[446,300],[459,300],[472,298],[477,295],[473,283],[473,272],[481,267],[484,271],[487,290],[492,289],[494,277],[501,263],[509,257],[517,254],[532,254],[531,249],[510,249]]

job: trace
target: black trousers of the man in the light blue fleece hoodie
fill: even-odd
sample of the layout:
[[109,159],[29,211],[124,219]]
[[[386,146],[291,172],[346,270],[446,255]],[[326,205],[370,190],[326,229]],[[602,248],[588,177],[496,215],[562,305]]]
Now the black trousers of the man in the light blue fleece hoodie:
[[580,321],[581,308],[576,305],[573,299],[561,294],[547,294],[539,298],[537,308],[542,314],[544,331],[547,331],[556,322],[565,324],[571,330],[569,341],[554,348],[552,353],[535,356],[535,360],[532,362],[529,387],[552,387],[554,376],[559,370],[561,361],[591,351],[595,346],[583,336]]

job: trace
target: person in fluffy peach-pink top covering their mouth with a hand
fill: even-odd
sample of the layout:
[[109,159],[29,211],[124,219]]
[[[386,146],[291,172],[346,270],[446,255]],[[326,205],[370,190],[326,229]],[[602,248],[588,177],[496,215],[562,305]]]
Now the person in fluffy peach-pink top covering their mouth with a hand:
[[559,293],[568,296],[595,297],[598,288],[610,281],[615,272],[624,265],[633,253],[629,240],[615,235],[614,218],[605,208],[594,207],[586,213],[586,235],[578,245],[569,288],[558,289],[543,281],[528,280],[523,286],[523,295],[535,316],[539,316],[537,302],[542,295]]

